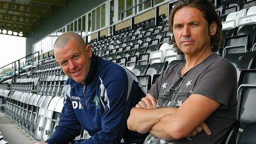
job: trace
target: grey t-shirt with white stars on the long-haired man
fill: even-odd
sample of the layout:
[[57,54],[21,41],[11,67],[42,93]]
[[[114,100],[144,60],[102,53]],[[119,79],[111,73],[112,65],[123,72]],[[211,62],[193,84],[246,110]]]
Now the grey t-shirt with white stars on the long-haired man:
[[185,62],[167,68],[148,93],[158,99],[158,108],[179,108],[191,94],[201,94],[221,103],[205,120],[211,135],[203,131],[194,137],[165,141],[150,134],[144,143],[221,143],[236,120],[237,76],[233,65],[216,54],[182,75],[184,65]]

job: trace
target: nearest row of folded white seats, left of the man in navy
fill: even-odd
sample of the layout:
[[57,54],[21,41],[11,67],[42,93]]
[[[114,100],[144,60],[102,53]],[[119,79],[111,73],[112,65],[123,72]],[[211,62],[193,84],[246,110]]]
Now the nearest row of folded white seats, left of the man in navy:
[[45,141],[58,125],[63,99],[16,91],[8,98],[5,114],[35,140]]

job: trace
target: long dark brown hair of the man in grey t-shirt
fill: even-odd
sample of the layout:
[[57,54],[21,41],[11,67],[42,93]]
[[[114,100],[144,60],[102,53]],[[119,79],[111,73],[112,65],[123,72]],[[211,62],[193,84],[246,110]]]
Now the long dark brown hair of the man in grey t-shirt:
[[[208,23],[208,30],[210,28],[211,23],[216,22],[217,24],[216,33],[215,35],[211,36],[211,46],[212,46],[211,50],[212,52],[217,52],[219,49],[221,49],[222,47],[221,19],[216,13],[214,5],[208,0],[180,0],[180,2],[172,10],[170,10],[169,31],[173,32],[173,17],[175,12],[177,12],[177,10],[183,7],[191,7],[191,8],[197,8],[201,10],[201,12],[204,13],[204,18]],[[175,52],[177,52],[178,54],[183,54],[183,52],[179,50],[174,38],[170,41],[170,43],[173,44]]]

